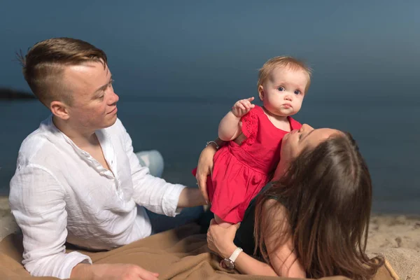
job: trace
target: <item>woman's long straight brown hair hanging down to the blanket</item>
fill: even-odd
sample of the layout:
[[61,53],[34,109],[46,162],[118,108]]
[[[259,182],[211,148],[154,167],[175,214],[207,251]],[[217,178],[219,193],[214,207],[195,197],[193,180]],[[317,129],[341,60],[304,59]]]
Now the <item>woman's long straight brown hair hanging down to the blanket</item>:
[[[272,197],[282,203],[265,204]],[[302,151],[286,174],[260,195],[255,253],[260,250],[269,262],[265,239],[279,236],[279,248],[291,237],[308,277],[372,279],[384,260],[365,255],[371,206],[372,181],[365,160],[351,134],[336,134]],[[279,221],[279,207],[286,208],[287,232],[270,224]]]

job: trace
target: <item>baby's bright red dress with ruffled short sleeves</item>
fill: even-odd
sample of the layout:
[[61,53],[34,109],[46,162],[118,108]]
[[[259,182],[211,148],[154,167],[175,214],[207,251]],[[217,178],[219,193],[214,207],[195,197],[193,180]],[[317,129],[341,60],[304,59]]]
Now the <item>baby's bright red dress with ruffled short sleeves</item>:
[[[288,120],[290,130],[302,126]],[[211,212],[229,223],[242,221],[249,202],[268,183],[280,160],[281,139],[288,133],[275,127],[257,105],[241,122],[246,139],[240,146],[229,141],[217,151],[211,180],[207,179]]]

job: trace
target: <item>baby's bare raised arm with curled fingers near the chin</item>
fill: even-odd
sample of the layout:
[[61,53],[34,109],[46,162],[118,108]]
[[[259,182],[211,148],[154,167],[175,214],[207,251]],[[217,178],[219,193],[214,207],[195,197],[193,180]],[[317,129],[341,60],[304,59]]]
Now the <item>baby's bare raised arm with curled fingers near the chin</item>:
[[241,134],[241,126],[239,125],[242,116],[246,115],[253,107],[254,104],[251,104],[253,97],[248,99],[241,99],[236,102],[232,111],[226,114],[225,117],[221,120],[218,127],[218,137],[223,141],[231,141],[236,139],[239,134]]

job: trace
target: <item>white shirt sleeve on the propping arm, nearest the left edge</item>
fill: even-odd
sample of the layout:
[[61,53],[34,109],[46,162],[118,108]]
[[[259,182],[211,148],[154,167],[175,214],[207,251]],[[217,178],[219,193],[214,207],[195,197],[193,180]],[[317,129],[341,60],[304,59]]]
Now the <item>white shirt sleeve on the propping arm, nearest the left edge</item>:
[[10,181],[10,209],[23,234],[23,265],[32,276],[70,278],[71,269],[92,260],[65,253],[65,192],[50,172],[37,165],[18,167]]

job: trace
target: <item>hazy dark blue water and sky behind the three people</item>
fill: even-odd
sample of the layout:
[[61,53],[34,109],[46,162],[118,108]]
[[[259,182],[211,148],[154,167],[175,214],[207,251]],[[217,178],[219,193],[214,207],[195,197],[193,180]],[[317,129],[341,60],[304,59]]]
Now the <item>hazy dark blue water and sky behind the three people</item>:
[[[11,1],[10,1],[11,2]],[[168,181],[194,184],[205,142],[276,55],[314,68],[301,123],[347,130],[374,181],[374,211],[420,214],[420,4],[415,1],[42,1],[2,4],[0,86],[28,90],[14,52],[52,36],[106,51],[134,148],[156,148]],[[25,6],[25,8],[22,8]],[[0,102],[0,193],[21,141],[48,116]]]

